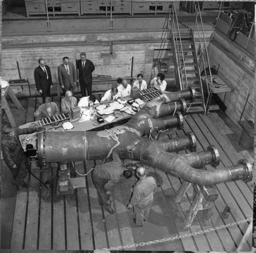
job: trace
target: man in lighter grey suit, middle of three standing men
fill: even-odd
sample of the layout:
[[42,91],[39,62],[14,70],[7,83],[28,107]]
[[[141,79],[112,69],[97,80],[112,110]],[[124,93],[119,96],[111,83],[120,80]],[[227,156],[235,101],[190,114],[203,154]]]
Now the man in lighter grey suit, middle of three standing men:
[[73,63],[69,62],[69,57],[63,57],[63,63],[58,66],[58,80],[63,94],[67,90],[74,92],[74,86],[76,84],[76,69]]

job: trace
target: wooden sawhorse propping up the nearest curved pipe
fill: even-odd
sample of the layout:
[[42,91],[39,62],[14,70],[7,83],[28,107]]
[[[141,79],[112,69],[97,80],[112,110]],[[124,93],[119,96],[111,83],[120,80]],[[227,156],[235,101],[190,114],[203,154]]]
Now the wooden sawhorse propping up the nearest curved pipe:
[[209,225],[211,210],[214,206],[214,200],[216,200],[219,195],[216,186],[196,185],[187,181],[183,181],[182,185],[176,193],[174,200],[175,203],[180,203],[182,197],[185,195],[190,185],[193,185],[196,194],[186,214],[183,226],[189,227],[196,217],[197,212],[200,210],[203,210],[204,212],[204,225]]

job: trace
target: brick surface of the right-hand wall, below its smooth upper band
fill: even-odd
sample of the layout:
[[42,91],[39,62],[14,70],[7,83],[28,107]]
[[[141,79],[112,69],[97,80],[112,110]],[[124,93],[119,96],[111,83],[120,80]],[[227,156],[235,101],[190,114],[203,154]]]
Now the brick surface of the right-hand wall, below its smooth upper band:
[[[210,43],[208,53],[210,65],[218,67],[220,64],[220,77],[233,88],[233,91],[227,92],[225,96],[226,114],[236,123],[241,117],[246,98],[250,94],[242,120],[254,122],[254,71],[245,67],[243,62],[236,58],[236,55],[227,53],[220,44]],[[243,57],[248,58],[249,56],[244,54]],[[224,95],[222,94],[220,97],[224,98]]]

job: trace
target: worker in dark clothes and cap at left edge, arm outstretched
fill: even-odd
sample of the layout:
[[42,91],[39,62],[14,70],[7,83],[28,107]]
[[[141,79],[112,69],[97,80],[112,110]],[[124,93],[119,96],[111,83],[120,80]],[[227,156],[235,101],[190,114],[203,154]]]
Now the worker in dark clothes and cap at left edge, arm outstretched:
[[28,174],[29,162],[18,135],[35,133],[37,128],[13,129],[11,125],[4,125],[2,135],[2,152],[4,160],[12,172],[12,184],[18,189],[19,185],[27,188],[24,182]]

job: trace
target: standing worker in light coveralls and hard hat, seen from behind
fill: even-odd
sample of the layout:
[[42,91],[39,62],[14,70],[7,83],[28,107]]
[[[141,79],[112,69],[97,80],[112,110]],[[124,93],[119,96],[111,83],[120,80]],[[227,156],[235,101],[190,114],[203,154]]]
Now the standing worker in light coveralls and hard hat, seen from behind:
[[153,193],[157,184],[152,176],[146,176],[146,169],[143,166],[138,167],[136,175],[139,180],[134,186],[133,196],[127,209],[134,207],[134,223],[137,226],[143,226],[143,221],[147,220],[153,203]]

